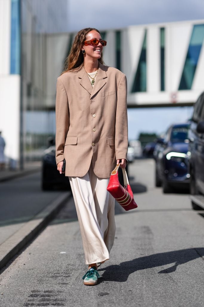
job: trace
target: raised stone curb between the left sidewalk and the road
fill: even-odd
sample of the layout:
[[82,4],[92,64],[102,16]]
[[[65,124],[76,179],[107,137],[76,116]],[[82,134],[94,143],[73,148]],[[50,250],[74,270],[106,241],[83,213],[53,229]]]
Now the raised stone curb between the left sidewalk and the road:
[[54,218],[71,195],[64,192],[1,244],[0,270]]

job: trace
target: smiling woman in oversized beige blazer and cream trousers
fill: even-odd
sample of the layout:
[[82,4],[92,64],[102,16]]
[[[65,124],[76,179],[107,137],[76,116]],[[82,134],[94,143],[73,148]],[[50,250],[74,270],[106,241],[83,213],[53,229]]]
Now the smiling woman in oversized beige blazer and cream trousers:
[[103,64],[106,41],[97,29],[79,31],[57,79],[56,162],[69,176],[88,271],[97,284],[98,266],[109,259],[115,237],[114,198],[107,192],[116,162],[126,166],[127,81]]

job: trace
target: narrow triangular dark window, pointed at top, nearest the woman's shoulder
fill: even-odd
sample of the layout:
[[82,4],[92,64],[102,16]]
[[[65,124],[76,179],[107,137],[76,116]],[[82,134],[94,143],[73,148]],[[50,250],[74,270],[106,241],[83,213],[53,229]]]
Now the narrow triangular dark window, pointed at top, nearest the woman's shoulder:
[[147,64],[146,64],[146,35],[147,30],[145,30],[143,47],[139,58],[139,63],[137,67],[137,72],[135,74],[135,79],[132,85],[132,93],[134,92],[145,92],[147,90]]

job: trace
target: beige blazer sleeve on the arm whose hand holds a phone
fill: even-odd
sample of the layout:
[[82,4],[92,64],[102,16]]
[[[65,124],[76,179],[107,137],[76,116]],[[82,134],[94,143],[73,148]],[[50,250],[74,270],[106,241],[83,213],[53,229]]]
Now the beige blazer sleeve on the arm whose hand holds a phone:
[[67,92],[62,81],[57,78],[56,94],[56,163],[64,160],[64,148],[69,130],[69,107]]

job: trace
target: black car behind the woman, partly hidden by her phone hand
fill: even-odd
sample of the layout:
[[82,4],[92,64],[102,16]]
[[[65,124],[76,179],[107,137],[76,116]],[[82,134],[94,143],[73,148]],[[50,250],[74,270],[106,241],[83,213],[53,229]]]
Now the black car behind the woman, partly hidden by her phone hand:
[[42,189],[43,190],[70,190],[69,178],[60,174],[55,161],[55,146],[45,150],[42,166]]

